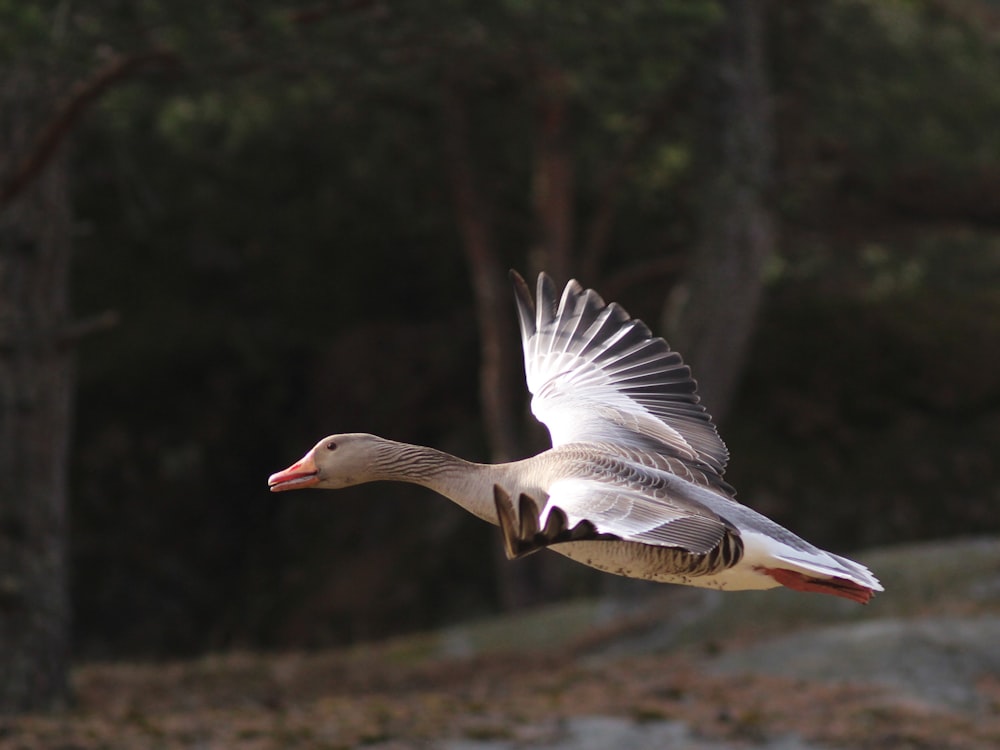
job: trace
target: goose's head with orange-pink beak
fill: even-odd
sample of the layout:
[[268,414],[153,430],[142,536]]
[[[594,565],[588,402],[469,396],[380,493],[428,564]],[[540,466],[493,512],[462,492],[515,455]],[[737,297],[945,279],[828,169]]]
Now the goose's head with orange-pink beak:
[[271,492],[306,487],[335,490],[370,482],[378,477],[382,438],[364,433],[330,435],[283,471],[272,474]]

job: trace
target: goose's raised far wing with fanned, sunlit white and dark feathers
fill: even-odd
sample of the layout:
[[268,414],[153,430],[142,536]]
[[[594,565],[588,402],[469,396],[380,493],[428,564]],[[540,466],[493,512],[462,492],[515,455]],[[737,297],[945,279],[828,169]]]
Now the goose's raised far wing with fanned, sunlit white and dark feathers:
[[531,410],[553,447],[606,441],[676,456],[721,477],[729,452],[691,371],[662,338],[615,303],[570,281],[557,302],[538,276],[537,305],[517,273]]

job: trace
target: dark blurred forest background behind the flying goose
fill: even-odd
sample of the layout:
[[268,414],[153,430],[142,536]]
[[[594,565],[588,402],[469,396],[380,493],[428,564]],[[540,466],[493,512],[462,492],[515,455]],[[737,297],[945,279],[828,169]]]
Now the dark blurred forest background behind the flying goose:
[[[12,290],[41,253],[24,304],[73,394],[71,431],[26,435],[5,390],[0,468],[7,493],[31,466],[66,484],[75,657],[320,647],[600,591],[501,561],[416,488],[267,492],[332,432],[540,448],[511,267],[676,325],[685,355],[678,305],[729,275],[698,299],[746,356],[687,359],[733,378],[706,398],[739,497],[815,543],[1000,531],[1000,4],[753,4],[760,70],[726,51],[733,5],[0,0],[0,374],[24,375]],[[743,266],[711,255],[733,184],[765,222]]]

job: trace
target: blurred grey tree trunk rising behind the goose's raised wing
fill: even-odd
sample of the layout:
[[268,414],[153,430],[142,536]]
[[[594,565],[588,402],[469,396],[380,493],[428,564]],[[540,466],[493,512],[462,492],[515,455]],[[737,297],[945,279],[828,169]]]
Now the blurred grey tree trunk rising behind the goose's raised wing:
[[725,8],[703,91],[701,158],[710,176],[701,240],[666,315],[671,344],[691,365],[702,400],[720,421],[743,372],[774,245],[763,3],[727,0]]

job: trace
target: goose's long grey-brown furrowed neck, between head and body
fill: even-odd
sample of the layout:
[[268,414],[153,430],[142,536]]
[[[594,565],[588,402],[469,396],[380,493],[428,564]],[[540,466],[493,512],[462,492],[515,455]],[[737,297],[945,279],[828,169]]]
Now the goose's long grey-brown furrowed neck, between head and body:
[[507,483],[511,466],[472,463],[423,445],[384,440],[371,467],[371,479],[419,484],[495,524],[493,485]]

